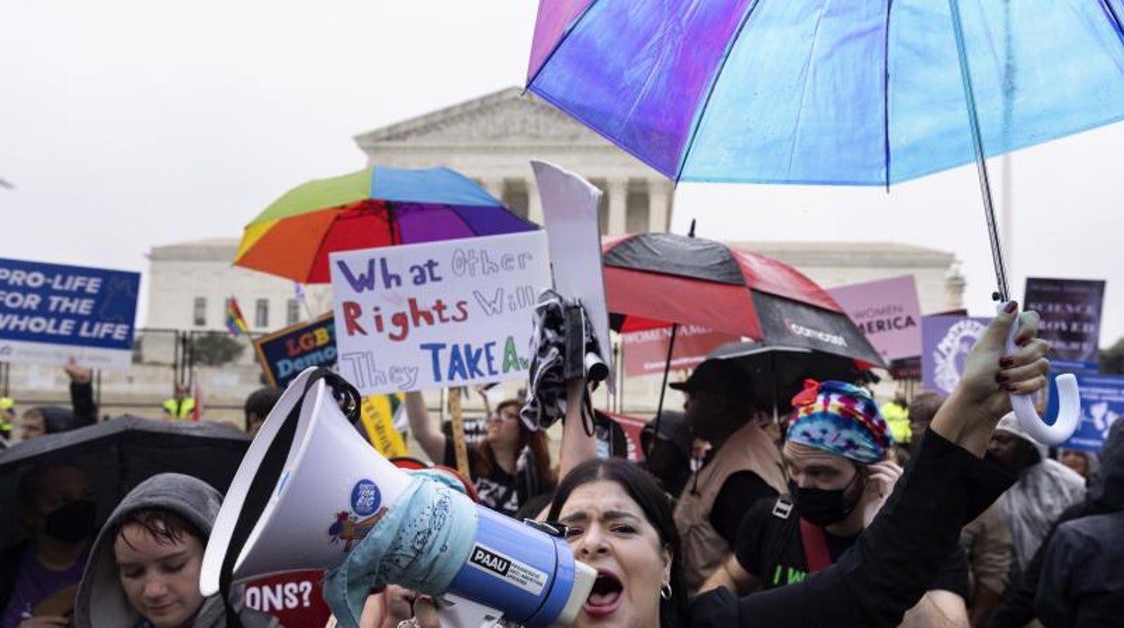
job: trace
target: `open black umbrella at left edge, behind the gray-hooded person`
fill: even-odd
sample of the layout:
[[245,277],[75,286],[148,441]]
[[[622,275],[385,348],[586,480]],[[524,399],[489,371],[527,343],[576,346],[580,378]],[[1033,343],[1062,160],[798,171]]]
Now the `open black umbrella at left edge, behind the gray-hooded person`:
[[84,470],[103,521],[126,493],[157,473],[191,475],[225,493],[248,447],[250,436],[226,425],[126,415],[0,450],[0,546],[22,539],[17,491],[29,468]]

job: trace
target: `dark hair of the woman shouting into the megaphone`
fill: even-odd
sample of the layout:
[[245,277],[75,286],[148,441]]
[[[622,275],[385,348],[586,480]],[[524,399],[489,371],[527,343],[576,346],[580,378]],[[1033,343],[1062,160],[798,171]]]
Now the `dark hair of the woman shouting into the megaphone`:
[[593,458],[573,467],[559,483],[546,519],[555,520],[578,486],[606,480],[616,482],[644,512],[644,518],[655,528],[660,543],[671,550],[671,599],[660,599],[660,626],[679,626],[687,617],[687,588],[681,574],[682,545],[672,518],[671,498],[660,488],[659,481],[646,471],[623,458]]

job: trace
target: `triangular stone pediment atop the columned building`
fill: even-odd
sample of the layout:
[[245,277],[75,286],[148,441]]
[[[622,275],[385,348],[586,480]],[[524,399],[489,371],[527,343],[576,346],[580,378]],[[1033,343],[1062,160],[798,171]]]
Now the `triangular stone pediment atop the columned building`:
[[438,109],[355,136],[360,148],[379,144],[602,144],[608,142],[519,88]]

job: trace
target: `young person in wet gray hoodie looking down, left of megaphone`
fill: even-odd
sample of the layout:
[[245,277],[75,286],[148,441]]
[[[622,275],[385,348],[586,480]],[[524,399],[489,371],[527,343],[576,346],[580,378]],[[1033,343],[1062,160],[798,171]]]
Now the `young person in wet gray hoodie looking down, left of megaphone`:
[[[74,607],[78,628],[221,628],[219,595],[199,592],[203,548],[223,497],[206,482],[162,473],[133,489],[93,541]],[[245,628],[277,627],[233,606]]]

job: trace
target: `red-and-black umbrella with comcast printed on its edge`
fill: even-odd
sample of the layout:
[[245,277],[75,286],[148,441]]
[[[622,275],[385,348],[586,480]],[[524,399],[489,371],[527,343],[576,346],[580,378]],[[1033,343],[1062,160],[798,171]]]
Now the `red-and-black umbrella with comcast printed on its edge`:
[[883,366],[839,303],[777,260],[676,234],[605,238],[601,253],[618,331],[691,324]]

